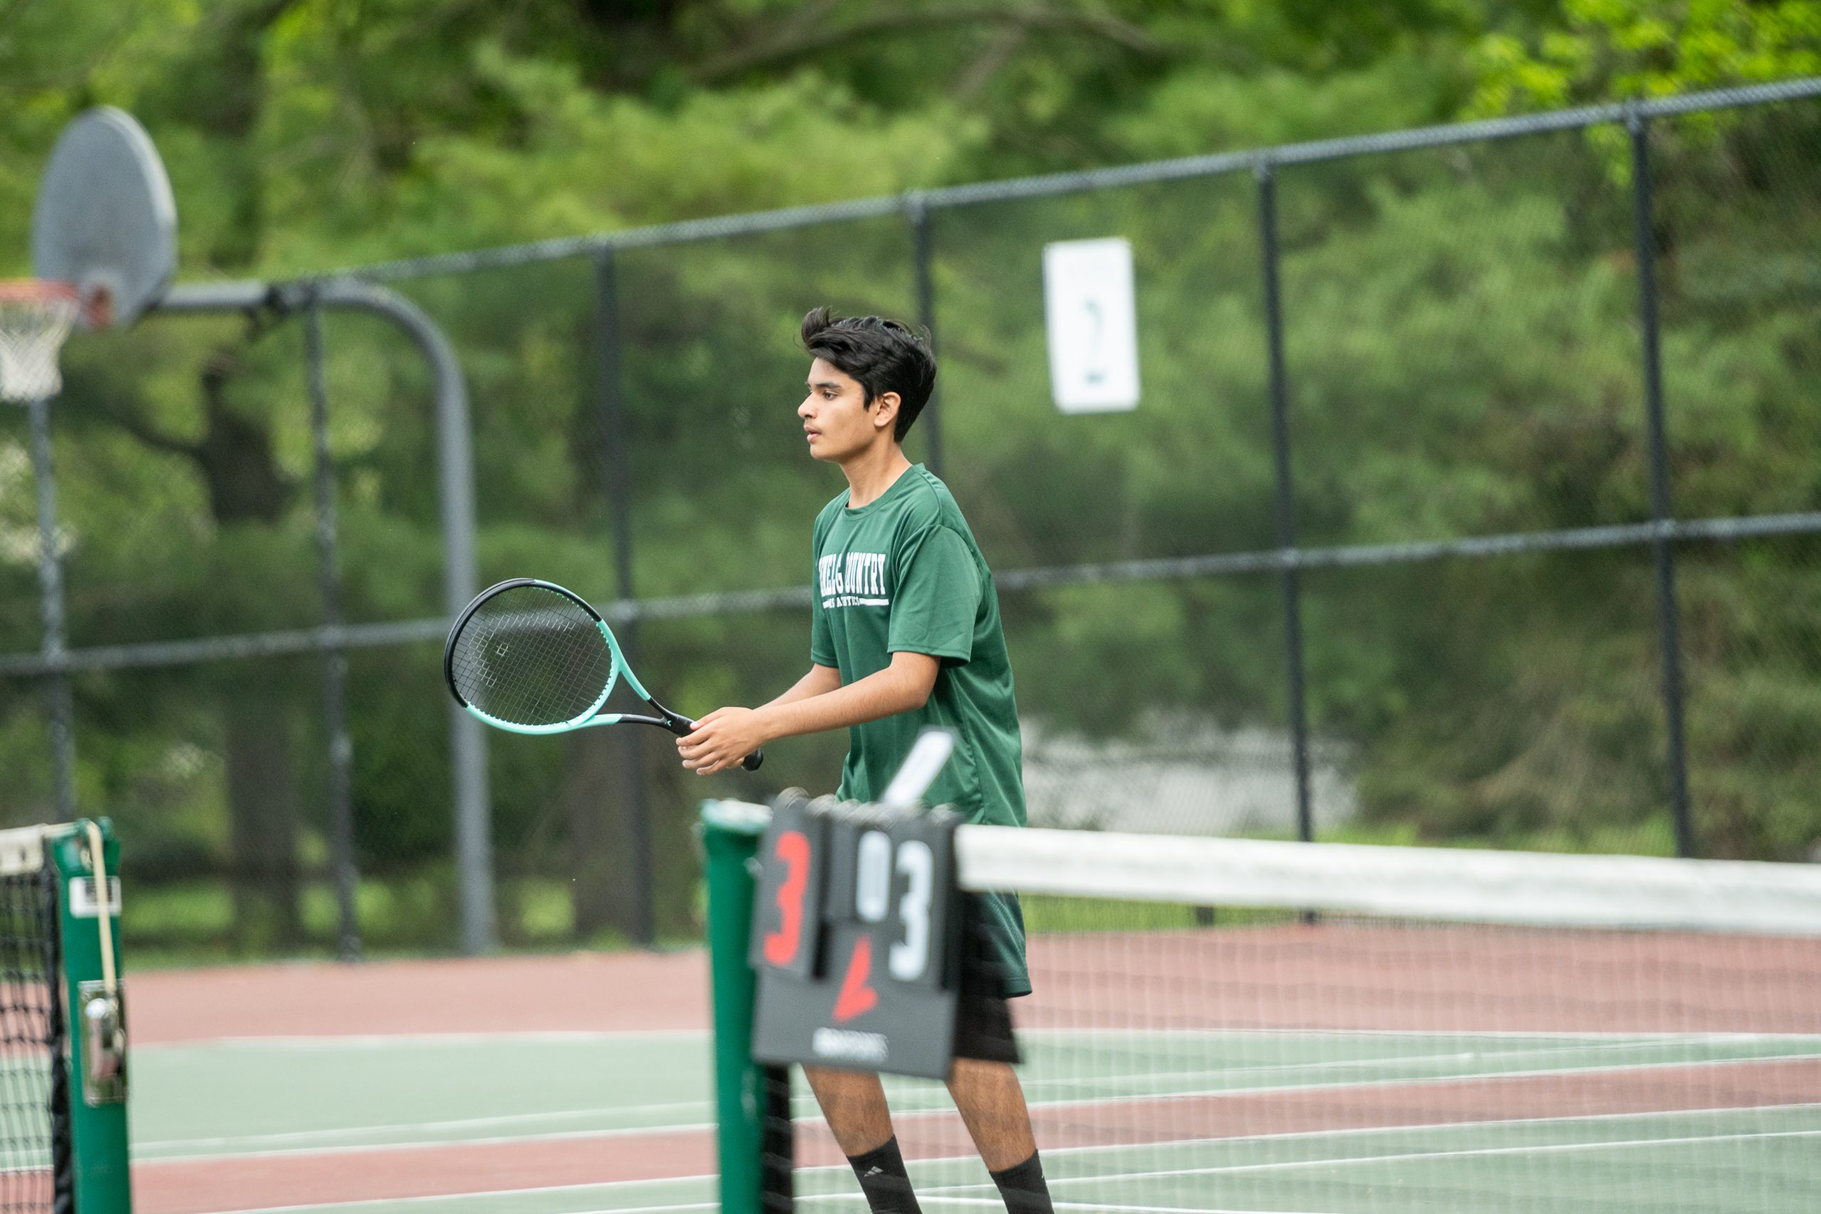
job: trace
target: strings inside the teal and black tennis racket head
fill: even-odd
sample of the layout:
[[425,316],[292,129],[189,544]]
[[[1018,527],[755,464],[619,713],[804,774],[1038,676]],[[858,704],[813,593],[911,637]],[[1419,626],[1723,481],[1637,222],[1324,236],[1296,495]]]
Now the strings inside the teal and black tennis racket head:
[[590,715],[614,686],[614,657],[595,619],[566,595],[515,586],[483,602],[455,637],[455,690],[510,724]]

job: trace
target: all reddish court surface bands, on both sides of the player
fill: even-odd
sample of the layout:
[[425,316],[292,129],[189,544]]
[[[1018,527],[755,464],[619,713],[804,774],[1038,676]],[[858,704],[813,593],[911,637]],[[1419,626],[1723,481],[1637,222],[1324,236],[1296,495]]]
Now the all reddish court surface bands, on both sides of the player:
[[[1821,941],[1286,925],[1038,937],[1031,963],[1038,994],[1018,1001],[1016,1016],[1022,1030],[1038,1030],[1036,1041],[1136,1030],[1227,1034],[1238,1043],[1260,1032],[1790,1043],[1765,1047],[1763,1057],[1551,1063],[1511,1074],[1386,1070],[1353,1081],[1342,1070],[1342,1081],[1322,1090],[1224,1090],[1218,1068],[1231,1056],[1207,1054],[1215,1077],[1193,1088],[1116,1099],[1058,1090],[1034,1099],[1038,1139],[1053,1148],[1821,1103],[1821,1057],[1812,1047],[1821,1036]],[[707,957],[696,950],[151,972],[133,976],[131,990],[137,1045],[461,1036],[481,1037],[484,1048],[490,1034],[504,1043],[534,1034],[705,1032],[710,1019]],[[677,1083],[661,1099],[707,1101],[708,1092],[696,1090],[705,1087],[699,1072]],[[359,1096],[350,1094],[353,1125]],[[971,1154],[951,1108],[898,1121],[909,1158]],[[839,1163],[827,1130],[805,1128],[799,1159]],[[674,1119],[523,1141],[501,1134],[144,1159],[135,1165],[135,1190],[138,1214],[215,1214],[712,1170],[712,1127]]]

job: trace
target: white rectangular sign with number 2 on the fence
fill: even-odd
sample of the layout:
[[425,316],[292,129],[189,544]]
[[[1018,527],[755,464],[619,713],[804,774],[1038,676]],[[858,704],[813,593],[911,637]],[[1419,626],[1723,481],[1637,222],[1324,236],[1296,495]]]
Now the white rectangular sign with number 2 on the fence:
[[1138,313],[1133,246],[1060,240],[1043,246],[1049,388],[1063,413],[1138,406]]

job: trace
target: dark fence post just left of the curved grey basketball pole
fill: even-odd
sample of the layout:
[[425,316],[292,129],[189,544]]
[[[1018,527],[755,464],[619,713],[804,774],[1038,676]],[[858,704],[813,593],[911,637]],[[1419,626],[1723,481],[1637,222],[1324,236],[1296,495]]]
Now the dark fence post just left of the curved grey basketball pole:
[[[341,633],[341,568],[335,524],[335,462],[330,455],[330,393],[322,368],[322,308],[315,291],[304,311],[304,364],[310,382],[310,437],[315,453],[317,582],[322,624]],[[322,652],[322,724],[330,735],[330,875],[335,885],[335,956],[361,957],[361,917],[355,906],[359,868],[353,854],[353,741],[348,735],[348,650],[335,642]],[[295,857],[291,857],[295,863]]]

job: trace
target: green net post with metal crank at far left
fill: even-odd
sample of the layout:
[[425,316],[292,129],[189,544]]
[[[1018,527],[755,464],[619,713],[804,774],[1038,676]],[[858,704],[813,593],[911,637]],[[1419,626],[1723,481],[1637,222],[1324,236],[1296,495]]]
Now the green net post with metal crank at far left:
[[[109,888],[118,888],[120,845],[111,823],[95,819]],[[46,837],[56,866],[58,919],[64,956],[64,1008],[69,1027],[69,1136],[75,1148],[75,1214],[131,1214],[127,1174],[124,1021],[109,997],[102,963],[100,926],[107,925],[115,970],[120,976],[120,903],[95,883],[89,857],[89,819]]]

